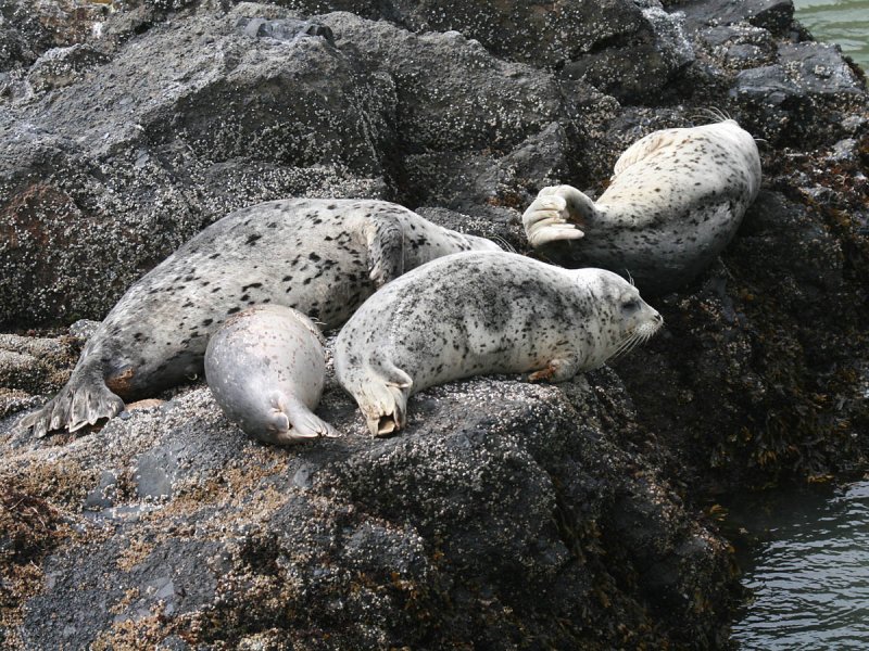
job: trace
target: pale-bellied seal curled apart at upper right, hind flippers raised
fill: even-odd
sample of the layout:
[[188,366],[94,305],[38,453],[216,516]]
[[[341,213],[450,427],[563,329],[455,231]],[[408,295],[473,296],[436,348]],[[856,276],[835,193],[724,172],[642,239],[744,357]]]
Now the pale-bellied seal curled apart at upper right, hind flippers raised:
[[570,186],[543,188],[522,224],[553,261],[629,273],[644,292],[662,293],[715,260],[759,188],[757,145],[726,119],[638,140],[596,202]]

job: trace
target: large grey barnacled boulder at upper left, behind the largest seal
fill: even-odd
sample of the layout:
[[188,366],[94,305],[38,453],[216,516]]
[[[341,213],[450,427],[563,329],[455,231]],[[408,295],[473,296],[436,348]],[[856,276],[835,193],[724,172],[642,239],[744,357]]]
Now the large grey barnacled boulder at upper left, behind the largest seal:
[[[99,316],[228,208],[352,194],[386,173],[389,79],[356,71],[323,37],[249,37],[237,20],[155,27],[99,75],[4,114],[0,319]],[[35,255],[48,241],[60,247]]]

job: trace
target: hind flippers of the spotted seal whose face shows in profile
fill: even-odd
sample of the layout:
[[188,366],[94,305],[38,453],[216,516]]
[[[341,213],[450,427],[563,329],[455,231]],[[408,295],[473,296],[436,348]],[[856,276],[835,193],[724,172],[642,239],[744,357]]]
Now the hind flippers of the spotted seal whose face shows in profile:
[[387,436],[407,424],[407,397],[413,383],[407,373],[392,365],[365,373],[352,393],[371,434]]

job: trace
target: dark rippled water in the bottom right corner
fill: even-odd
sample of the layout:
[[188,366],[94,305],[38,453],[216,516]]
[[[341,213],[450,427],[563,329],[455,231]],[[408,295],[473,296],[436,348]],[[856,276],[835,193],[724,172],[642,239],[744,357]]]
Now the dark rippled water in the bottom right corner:
[[741,649],[869,649],[869,482],[781,493],[729,520],[757,537],[740,552],[754,592]]

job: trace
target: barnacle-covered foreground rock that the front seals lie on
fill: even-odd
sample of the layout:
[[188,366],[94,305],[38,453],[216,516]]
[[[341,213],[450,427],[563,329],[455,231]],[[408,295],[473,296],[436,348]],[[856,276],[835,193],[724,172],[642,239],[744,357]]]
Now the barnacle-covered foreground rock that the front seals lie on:
[[[291,449],[251,442],[197,388],[169,414],[135,412],[61,448],[30,442],[4,456],[0,478],[62,467],[89,478],[85,493],[48,496],[81,533],[45,559],[11,639],[235,647],[267,629],[323,649],[505,636],[609,646],[625,634],[603,613],[631,630],[647,622],[652,589],[622,582],[660,566],[679,567],[654,579],[675,604],[664,616],[680,636],[707,635],[720,613],[696,614],[680,595],[723,597],[723,541],[614,445],[620,417],[599,396],[615,398],[618,383],[581,378],[569,399],[513,381],[439,387],[411,400],[407,430],[389,439],[368,438],[331,383],[324,407],[344,436]],[[142,492],[143,459],[171,490]],[[83,506],[102,510],[76,515]],[[654,548],[621,542],[624,513],[658,523]],[[638,640],[660,639],[645,630]]]

